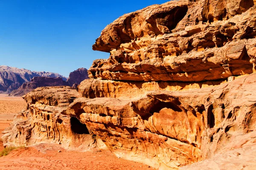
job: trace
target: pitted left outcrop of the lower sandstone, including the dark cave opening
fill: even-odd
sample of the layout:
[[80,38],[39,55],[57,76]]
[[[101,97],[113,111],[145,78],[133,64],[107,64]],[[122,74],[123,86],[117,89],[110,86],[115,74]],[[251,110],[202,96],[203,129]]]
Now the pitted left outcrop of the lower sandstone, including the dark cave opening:
[[[89,134],[75,116],[63,112],[79,96],[68,86],[37,88],[24,99],[28,110],[15,116],[2,137],[5,147],[57,143],[73,150],[96,147],[96,138]],[[82,144],[82,145],[81,145]]]

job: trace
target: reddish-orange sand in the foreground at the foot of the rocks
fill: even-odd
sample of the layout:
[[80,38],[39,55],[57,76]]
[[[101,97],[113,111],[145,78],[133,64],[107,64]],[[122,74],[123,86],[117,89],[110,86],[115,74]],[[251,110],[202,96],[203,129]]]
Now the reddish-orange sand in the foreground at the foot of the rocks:
[[153,170],[147,165],[118,159],[110,151],[76,152],[42,144],[21,148],[0,158],[1,170]]

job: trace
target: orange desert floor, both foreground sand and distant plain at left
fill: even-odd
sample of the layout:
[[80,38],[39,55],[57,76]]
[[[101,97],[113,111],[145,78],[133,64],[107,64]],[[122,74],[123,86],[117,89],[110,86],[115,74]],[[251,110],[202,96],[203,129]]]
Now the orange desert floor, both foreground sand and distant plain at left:
[[[26,107],[21,97],[0,94],[0,132],[12,122],[15,113]],[[0,137],[3,136],[0,133]],[[3,142],[0,140],[0,150]],[[58,152],[61,151],[61,152]],[[0,170],[153,170],[145,164],[117,158],[111,151],[76,152],[57,145],[40,144],[18,148],[0,157]]]

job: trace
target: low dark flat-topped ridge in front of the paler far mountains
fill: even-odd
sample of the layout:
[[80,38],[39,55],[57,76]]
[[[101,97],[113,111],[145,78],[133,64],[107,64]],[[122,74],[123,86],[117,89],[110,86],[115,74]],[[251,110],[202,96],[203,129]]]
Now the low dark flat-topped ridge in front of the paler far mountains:
[[64,81],[61,77],[34,77],[30,82],[24,82],[17,90],[12,91],[9,96],[23,96],[30,91],[47,86],[65,86],[69,85],[68,82]]

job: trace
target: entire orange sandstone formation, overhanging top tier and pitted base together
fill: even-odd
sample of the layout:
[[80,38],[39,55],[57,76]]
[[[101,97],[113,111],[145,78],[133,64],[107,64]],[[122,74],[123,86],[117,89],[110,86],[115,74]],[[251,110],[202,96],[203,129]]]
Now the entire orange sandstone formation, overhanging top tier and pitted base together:
[[[5,145],[31,145],[48,136],[56,142],[50,134],[67,131],[52,127],[72,127],[76,119],[97,145],[102,141],[116,155],[158,169],[250,169],[256,161],[255,5],[180,0],[119,17],[93,45],[110,58],[93,62],[91,79],[78,93],[62,87],[27,94],[27,114],[20,116],[26,123],[15,119],[4,132]],[[76,96],[67,102],[59,93]],[[49,113],[67,121],[48,119]],[[68,134],[64,146],[72,141]]]

